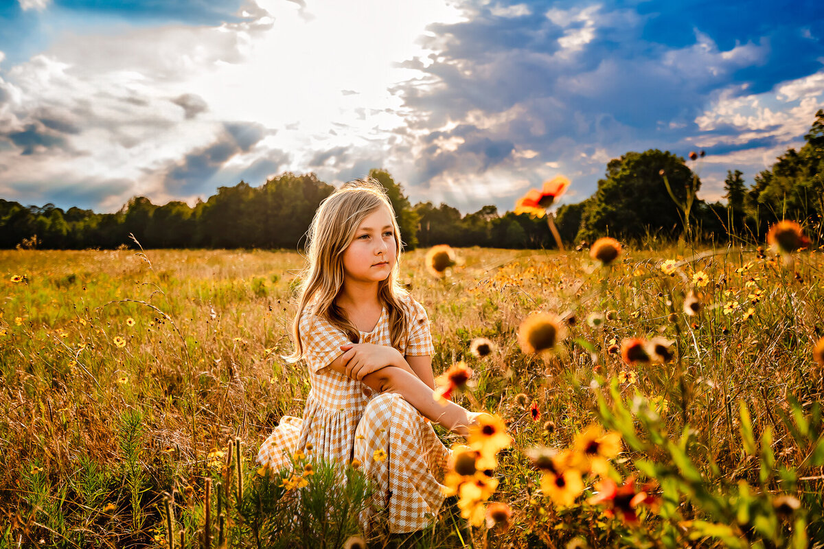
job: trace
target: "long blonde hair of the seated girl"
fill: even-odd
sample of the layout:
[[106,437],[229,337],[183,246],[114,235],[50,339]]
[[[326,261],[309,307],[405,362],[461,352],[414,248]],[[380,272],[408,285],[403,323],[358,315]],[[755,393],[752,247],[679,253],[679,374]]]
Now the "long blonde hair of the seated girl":
[[386,207],[389,211],[398,254],[389,276],[378,282],[377,298],[386,307],[389,316],[392,347],[400,347],[409,329],[405,304],[409,292],[400,286],[399,281],[403,250],[400,228],[392,203],[386,197],[386,189],[376,179],[368,177],[342,185],[325,198],[315,212],[307,231],[308,265],[301,273],[301,282],[297,286],[297,313],[292,323],[294,351],[285,357],[286,361],[297,362],[303,358],[300,322],[304,313],[326,319],[345,333],[351,342],[358,342],[358,328],[347,318],[344,310],[335,305],[335,298],[344,285],[344,251],[354,239],[361,222],[380,207]]

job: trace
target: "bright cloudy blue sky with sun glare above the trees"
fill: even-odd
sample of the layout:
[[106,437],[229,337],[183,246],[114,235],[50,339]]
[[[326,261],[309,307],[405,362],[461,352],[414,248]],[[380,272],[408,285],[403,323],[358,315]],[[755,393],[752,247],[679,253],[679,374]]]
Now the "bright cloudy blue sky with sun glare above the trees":
[[700,198],[801,147],[824,2],[0,0],[0,198],[115,212],[291,171],[388,170],[412,203],[560,203],[684,158]]

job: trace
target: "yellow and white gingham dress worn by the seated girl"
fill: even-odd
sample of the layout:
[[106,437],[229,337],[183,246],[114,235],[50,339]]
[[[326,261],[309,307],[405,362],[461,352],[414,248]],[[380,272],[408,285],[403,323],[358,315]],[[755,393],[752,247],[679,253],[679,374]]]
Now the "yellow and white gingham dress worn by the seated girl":
[[[426,309],[408,297],[409,335],[398,351],[404,356],[432,356],[434,348]],[[257,462],[274,470],[289,464],[288,454],[312,444],[312,455],[335,463],[357,458],[377,488],[372,503],[386,509],[391,533],[426,528],[443,503],[442,480],[449,450],[432,426],[398,394],[372,397],[367,385],[326,366],[341,354],[349,337],[325,319],[305,313],[300,320],[304,360],[311,390],[303,418],[283,416],[260,446]],[[372,332],[360,342],[391,345],[386,307]],[[375,458],[378,449],[385,459]],[[367,511],[363,527],[373,517]]]

